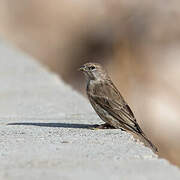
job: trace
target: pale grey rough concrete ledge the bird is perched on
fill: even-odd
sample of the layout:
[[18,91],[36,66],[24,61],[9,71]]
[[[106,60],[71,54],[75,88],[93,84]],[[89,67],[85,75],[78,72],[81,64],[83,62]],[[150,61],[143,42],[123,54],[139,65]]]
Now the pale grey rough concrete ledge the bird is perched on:
[[32,58],[0,44],[0,179],[180,179],[180,171],[101,120]]

